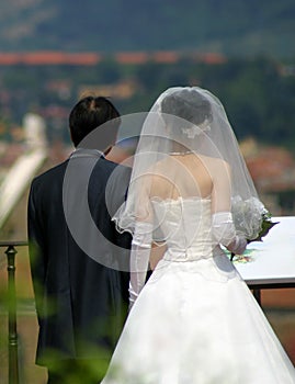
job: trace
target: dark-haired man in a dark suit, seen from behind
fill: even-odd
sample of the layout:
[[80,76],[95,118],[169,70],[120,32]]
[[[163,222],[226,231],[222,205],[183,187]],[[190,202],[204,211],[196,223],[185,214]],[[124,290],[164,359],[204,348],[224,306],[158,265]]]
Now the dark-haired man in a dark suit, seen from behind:
[[120,263],[128,263],[131,236],[118,234],[111,216],[125,199],[131,169],[105,158],[118,125],[107,99],[81,99],[69,115],[76,150],[31,185],[36,363],[48,369],[49,384],[98,383],[127,315],[129,275]]

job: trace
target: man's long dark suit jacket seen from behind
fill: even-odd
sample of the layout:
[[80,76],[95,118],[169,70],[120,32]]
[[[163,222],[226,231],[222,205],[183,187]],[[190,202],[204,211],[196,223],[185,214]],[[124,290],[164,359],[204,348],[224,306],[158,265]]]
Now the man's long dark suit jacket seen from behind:
[[[110,214],[124,202],[131,169],[95,150],[76,153],[79,156],[35,178],[29,196],[29,249],[39,324],[36,363],[44,365],[60,358],[109,359],[127,315],[129,276],[116,267],[122,260],[126,264],[132,238],[118,234]],[[72,173],[65,185],[69,165]],[[81,194],[103,235],[99,242],[88,231],[89,217],[77,211]],[[83,244],[70,228],[73,218]],[[89,256],[83,245],[92,239],[98,249]]]

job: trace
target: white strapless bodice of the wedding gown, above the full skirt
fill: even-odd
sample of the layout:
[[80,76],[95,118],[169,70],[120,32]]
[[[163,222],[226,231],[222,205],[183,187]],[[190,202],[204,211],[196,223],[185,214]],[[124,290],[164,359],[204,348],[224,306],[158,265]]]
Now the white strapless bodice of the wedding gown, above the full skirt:
[[209,199],[152,200],[152,206],[168,247],[164,259],[185,261],[213,256],[216,244],[212,240]]

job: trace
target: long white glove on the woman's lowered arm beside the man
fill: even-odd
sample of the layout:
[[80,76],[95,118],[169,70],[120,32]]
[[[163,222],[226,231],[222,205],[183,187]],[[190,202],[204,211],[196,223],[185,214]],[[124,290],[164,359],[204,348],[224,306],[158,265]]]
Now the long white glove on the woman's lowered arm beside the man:
[[146,282],[151,241],[152,225],[146,222],[137,222],[131,251],[129,309]]

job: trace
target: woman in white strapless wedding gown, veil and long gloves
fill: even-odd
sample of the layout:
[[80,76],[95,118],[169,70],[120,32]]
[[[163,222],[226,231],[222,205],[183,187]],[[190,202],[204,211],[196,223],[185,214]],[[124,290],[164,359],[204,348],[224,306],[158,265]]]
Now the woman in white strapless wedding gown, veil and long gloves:
[[[148,113],[128,196],[131,312],[103,384],[288,384],[295,370],[227,251],[265,212],[219,100],[170,88]],[[151,248],[166,251],[148,282]]]

